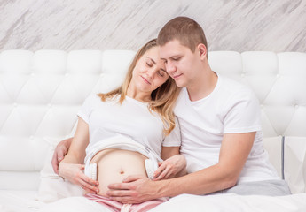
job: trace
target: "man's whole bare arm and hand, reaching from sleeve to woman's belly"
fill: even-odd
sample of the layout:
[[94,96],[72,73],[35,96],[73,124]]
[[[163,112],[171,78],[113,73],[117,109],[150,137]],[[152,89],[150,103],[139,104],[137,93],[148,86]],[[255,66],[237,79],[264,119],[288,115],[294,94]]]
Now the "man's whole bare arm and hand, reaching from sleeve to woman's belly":
[[237,183],[254,140],[255,132],[224,134],[219,162],[215,165],[184,177],[161,181],[131,176],[126,178],[126,183],[109,185],[107,194],[114,201],[136,203],[181,193],[205,194],[224,190]]

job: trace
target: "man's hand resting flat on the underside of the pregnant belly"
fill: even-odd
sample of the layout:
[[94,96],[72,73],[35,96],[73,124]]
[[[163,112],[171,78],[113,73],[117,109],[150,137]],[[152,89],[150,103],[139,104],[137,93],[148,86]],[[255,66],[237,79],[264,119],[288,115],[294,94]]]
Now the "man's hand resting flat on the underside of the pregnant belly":
[[158,184],[144,176],[133,175],[125,178],[123,183],[110,184],[107,195],[113,201],[123,204],[140,203],[159,198]]

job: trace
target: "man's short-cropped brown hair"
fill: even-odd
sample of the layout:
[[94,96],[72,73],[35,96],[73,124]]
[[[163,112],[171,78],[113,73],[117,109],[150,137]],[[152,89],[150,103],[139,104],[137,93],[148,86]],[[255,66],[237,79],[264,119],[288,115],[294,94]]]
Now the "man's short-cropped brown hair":
[[177,39],[182,45],[194,52],[194,49],[200,43],[203,43],[208,49],[208,42],[202,27],[193,19],[188,17],[177,17],[161,28],[157,37],[157,44],[165,45]]

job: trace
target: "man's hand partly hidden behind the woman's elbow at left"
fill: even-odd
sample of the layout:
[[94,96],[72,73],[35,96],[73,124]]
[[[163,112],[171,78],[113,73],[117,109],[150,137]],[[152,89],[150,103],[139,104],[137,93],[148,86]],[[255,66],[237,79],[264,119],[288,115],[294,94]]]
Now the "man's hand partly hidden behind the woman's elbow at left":
[[60,141],[54,150],[51,163],[54,172],[57,174],[59,174],[59,162],[61,162],[64,159],[64,156],[67,155],[72,140],[73,138],[69,138],[67,140]]

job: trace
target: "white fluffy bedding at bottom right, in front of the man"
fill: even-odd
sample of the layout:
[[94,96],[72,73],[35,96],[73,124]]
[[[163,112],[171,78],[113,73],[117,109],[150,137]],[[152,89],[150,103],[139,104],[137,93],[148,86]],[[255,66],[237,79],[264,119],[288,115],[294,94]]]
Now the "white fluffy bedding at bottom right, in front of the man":
[[306,212],[306,193],[278,197],[234,193],[207,196],[181,194],[151,211]]

